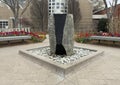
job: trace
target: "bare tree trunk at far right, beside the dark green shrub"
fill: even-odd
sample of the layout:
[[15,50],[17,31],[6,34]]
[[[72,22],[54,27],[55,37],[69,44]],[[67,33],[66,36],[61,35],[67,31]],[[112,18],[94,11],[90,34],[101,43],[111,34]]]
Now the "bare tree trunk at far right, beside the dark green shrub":
[[108,30],[109,32],[115,32],[114,17],[115,17],[115,10],[118,0],[113,0],[112,2],[109,2],[110,7],[108,7],[107,0],[103,0],[103,1],[105,3],[105,9],[108,18]]

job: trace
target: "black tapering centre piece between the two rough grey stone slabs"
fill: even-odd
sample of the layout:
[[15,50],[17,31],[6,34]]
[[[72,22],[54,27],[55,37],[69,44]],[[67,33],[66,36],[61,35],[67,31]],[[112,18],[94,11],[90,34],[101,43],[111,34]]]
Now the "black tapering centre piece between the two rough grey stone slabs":
[[56,36],[55,54],[66,55],[65,48],[62,45],[66,14],[54,14],[54,20],[55,20],[54,25],[55,25],[55,36]]

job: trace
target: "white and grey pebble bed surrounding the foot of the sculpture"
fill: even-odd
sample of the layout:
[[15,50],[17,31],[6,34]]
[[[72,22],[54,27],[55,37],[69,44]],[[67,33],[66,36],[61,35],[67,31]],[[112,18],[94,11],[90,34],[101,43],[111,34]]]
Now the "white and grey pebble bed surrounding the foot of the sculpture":
[[51,55],[50,54],[50,47],[40,47],[40,48],[35,48],[35,49],[30,49],[27,50],[29,53],[32,55],[38,55],[40,57],[46,57],[53,62],[57,62],[60,64],[69,64],[72,62],[77,61],[78,59],[81,59],[82,57],[85,57],[87,55],[92,54],[95,52],[94,50],[86,49],[86,48],[80,48],[80,47],[74,47],[73,51],[74,54],[71,56],[66,56],[66,55]]

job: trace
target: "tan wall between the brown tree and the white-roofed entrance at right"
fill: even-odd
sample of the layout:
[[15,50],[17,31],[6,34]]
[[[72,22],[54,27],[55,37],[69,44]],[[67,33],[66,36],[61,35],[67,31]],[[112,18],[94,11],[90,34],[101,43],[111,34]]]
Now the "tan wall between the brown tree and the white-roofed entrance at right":
[[80,21],[80,30],[82,32],[93,32],[93,5],[89,0],[79,0],[80,11],[81,11],[81,21]]

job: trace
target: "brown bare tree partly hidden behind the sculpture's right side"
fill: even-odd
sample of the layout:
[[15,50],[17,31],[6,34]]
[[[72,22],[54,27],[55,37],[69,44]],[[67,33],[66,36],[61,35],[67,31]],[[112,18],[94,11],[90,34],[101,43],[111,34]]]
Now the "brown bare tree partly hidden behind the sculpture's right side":
[[68,1],[68,13],[73,14],[75,30],[79,30],[81,19],[79,0]]

